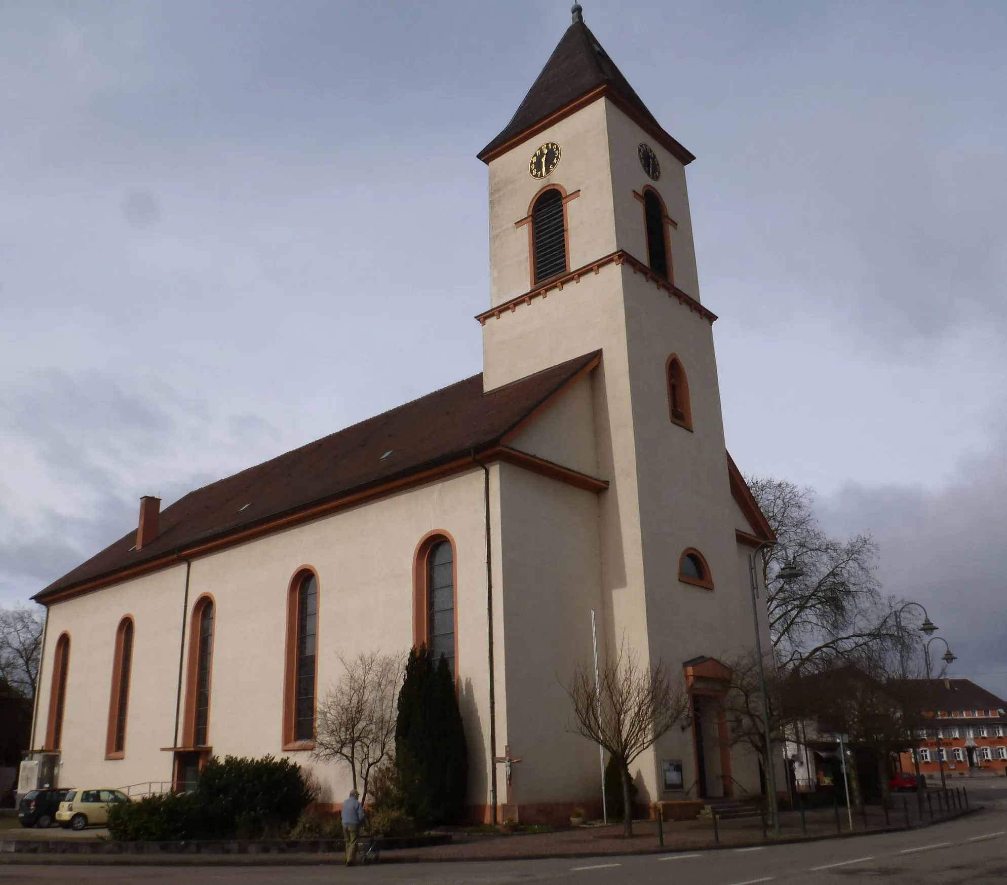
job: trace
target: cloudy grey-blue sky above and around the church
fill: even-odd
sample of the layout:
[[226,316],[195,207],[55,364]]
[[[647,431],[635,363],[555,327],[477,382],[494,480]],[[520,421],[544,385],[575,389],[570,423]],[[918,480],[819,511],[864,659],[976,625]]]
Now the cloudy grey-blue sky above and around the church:
[[[586,0],[689,167],[728,445],[1007,695],[1007,5]],[[480,370],[566,0],[0,6],[0,603]],[[943,649],[942,649],[943,650]]]

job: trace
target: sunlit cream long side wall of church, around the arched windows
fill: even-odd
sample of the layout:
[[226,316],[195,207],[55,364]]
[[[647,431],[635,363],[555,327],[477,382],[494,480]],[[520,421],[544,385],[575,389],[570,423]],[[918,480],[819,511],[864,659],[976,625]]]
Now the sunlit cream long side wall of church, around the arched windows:
[[[193,561],[189,617],[202,594],[211,594],[215,602],[208,729],[215,755],[284,755],[287,590],[299,568],[310,565],[319,575],[321,699],[342,673],[340,653],[352,657],[375,649],[408,650],[413,639],[416,546],[428,532],[443,530],[456,543],[457,667],[468,737],[470,800],[486,801],[482,476],[481,470],[473,469]],[[172,746],[184,571],[179,565],[51,606],[39,708],[41,735],[55,641],[62,630],[71,637],[60,783],[124,786],[170,780],[171,753],[160,748]],[[126,753],[121,760],[106,760],[115,630],[126,613],[136,620]],[[322,781],[322,801],[340,801],[348,791],[344,768],[322,766],[307,751],[286,755],[315,768]]]

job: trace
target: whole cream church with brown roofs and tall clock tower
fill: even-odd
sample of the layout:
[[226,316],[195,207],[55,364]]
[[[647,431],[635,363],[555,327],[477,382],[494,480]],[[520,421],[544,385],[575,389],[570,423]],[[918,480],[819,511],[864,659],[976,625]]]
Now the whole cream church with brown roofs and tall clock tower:
[[473,820],[600,814],[564,688],[593,667],[593,612],[602,662],[681,668],[693,699],[634,761],[637,800],[760,791],[720,661],[754,647],[748,561],[772,535],[725,447],[695,158],[576,5],[478,157],[482,373],[163,510],[144,497],[138,527],[41,590],[40,781],[166,789],[271,753],[337,805],[349,773],[312,748],[339,655],[427,643],[456,679]]

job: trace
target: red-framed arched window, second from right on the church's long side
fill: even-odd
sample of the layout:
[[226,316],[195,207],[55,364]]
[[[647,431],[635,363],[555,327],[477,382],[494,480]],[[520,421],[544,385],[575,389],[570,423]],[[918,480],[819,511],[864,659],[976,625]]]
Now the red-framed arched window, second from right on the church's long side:
[[284,749],[314,746],[318,650],[318,577],[300,571],[287,597],[287,663],[284,680]]

